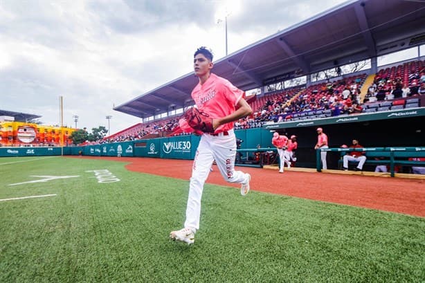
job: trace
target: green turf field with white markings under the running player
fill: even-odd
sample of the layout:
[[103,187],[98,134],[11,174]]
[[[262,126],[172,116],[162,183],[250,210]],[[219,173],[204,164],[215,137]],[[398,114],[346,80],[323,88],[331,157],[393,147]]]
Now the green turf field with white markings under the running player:
[[188,246],[188,180],[124,165],[0,158],[0,282],[425,282],[424,218],[206,185]]

